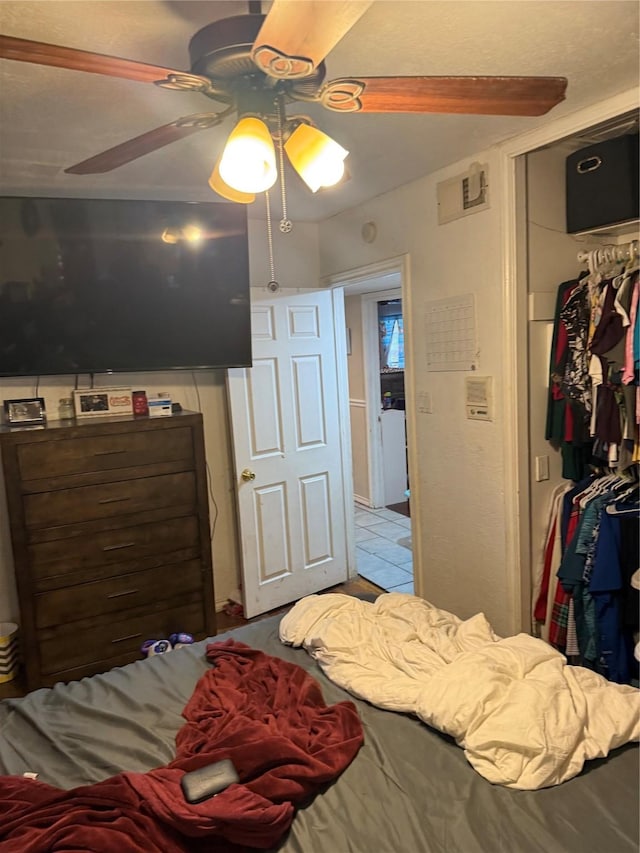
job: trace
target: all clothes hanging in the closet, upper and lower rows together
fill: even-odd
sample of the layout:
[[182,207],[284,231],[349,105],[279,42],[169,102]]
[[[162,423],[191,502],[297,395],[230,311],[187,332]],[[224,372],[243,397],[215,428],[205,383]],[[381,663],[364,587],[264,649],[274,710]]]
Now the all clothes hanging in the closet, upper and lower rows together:
[[640,657],[637,258],[637,241],[580,255],[588,272],[558,287],[545,435],[573,485],[552,496],[533,584],[540,635],[620,683]]

